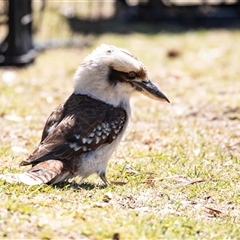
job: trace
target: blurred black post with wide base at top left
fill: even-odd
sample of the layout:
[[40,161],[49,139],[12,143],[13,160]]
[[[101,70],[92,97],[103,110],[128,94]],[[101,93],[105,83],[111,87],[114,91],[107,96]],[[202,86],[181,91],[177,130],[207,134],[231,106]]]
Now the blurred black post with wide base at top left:
[[25,66],[36,52],[32,40],[31,0],[9,0],[8,35],[0,43],[0,66]]

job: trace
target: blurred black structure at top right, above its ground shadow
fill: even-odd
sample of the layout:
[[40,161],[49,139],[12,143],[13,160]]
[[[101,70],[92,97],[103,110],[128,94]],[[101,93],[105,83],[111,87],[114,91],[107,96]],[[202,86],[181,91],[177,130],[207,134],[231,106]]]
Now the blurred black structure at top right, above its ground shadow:
[[[147,14],[150,13],[150,14]],[[240,18],[240,0],[139,0],[129,20],[204,22]],[[204,21],[202,21],[204,20]]]

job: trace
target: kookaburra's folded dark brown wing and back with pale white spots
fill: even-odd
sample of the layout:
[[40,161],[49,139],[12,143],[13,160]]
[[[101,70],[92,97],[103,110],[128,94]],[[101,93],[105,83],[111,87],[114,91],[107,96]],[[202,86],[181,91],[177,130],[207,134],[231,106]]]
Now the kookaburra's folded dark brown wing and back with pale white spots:
[[44,128],[48,134],[43,134],[43,141],[21,166],[49,159],[68,160],[102,144],[110,144],[127,120],[122,108],[75,94],[65,102],[62,114],[58,115],[61,115],[56,118],[59,122],[49,121],[50,127]]

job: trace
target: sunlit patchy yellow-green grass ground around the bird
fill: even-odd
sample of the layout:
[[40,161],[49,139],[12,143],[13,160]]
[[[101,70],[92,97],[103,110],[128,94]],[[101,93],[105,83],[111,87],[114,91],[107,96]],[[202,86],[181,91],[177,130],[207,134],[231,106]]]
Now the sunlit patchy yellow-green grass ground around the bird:
[[[36,40],[52,37],[61,21],[50,32],[43,24]],[[63,25],[61,36],[72,36]],[[82,185],[0,180],[0,238],[239,239],[239,41],[226,29],[105,33],[89,48],[47,50],[27,68],[1,68],[1,173],[27,169],[18,164],[101,43],[138,56],[171,104],[133,97],[131,124],[108,166],[108,178],[123,186],[104,187],[96,176]]]

